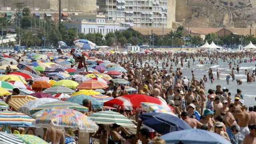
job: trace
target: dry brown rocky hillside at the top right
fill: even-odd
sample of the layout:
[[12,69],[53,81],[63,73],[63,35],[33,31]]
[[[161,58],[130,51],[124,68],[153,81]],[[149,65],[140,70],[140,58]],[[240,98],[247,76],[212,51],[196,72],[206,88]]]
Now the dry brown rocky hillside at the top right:
[[[176,20],[186,26],[256,26],[256,0],[177,0],[176,3]],[[185,14],[179,14],[184,10]]]

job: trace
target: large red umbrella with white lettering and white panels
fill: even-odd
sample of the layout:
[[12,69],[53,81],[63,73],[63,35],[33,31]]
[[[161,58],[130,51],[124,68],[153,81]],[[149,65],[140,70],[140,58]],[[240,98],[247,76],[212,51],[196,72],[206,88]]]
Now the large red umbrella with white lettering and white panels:
[[150,102],[154,104],[159,104],[165,109],[170,109],[170,107],[167,104],[165,104],[158,98],[154,98],[152,96],[146,96],[143,94],[128,94],[128,95],[120,96],[112,100],[109,100],[107,102],[104,102],[104,106],[122,108],[124,110],[134,110],[134,109],[139,110],[141,108],[140,106],[141,102]]

